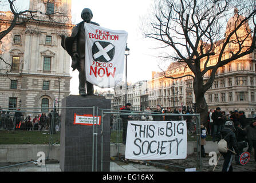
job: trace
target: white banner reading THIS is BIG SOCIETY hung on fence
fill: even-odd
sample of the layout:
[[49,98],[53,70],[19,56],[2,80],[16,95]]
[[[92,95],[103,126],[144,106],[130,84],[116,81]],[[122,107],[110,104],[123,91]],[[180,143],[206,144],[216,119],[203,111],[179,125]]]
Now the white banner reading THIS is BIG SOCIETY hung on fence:
[[186,121],[128,121],[125,158],[171,160],[186,157]]

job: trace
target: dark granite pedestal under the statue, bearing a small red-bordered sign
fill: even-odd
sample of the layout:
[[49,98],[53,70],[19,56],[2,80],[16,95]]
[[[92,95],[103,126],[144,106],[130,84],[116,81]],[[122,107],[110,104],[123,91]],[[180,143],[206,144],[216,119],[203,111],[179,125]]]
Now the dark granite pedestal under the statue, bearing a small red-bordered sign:
[[[63,172],[101,171],[101,125],[103,125],[103,171],[109,172],[109,114],[105,115],[101,120],[103,121],[101,122],[101,125],[94,125],[94,133],[97,133],[98,135],[94,136],[93,165],[93,126],[74,125],[74,114],[93,114],[93,109],[80,109],[81,107],[92,106],[95,106],[96,116],[96,108],[99,107],[99,109],[110,109],[111,100],[107,100],[105,97],[99,96],[68,96],[62,100],[62,108],[72,108],[62,109],[61,113],[60,169]],[[101,112],[99,112],[98,116],[101,116]],[[92,166],[94,166],[94,170],[92,169]]]

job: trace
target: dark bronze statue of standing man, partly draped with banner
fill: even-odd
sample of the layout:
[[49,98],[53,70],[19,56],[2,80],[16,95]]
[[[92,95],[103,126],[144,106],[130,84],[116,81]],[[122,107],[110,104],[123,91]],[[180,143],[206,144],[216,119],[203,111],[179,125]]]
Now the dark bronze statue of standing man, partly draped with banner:
[[[90,21],[93,17],[92,11],[88,8],[82,10],[81,18],[82,22],[78,23],[72,30],[70,37],[65,37],[61,35],[61,46],[68,52],[72,58],[71,67],[74,70],[79,71],[79,94],[80,96],[93,96],[93,84],[86,81],[85,75],[85,29],[84,22],[92,23],[94,25],[100,26],[96,22]],[[85,92],[85,82],[86,90]]]

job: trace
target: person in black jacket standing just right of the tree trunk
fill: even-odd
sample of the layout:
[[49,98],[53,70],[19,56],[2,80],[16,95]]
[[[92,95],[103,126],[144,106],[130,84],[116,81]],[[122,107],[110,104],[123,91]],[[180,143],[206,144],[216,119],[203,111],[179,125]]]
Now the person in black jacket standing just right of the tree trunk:
[[220,108],[216,108],[215,112],[212,113],[211,118],[213,120],[213,133],[212,133],[212,141],[215,142],[216,135],[220,132],[223,126],[223,118],[220,113]]

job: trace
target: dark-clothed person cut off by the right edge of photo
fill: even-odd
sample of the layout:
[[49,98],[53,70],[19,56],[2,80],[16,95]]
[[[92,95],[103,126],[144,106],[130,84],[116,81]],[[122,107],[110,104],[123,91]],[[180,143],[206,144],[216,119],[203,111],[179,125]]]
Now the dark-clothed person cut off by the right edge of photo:
[[246,126],[245,130],[249,145],[247,152],[251,153],[251,149],[254,148],[254,161],[256,161],[256,117],[250,125]]

